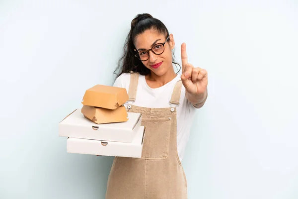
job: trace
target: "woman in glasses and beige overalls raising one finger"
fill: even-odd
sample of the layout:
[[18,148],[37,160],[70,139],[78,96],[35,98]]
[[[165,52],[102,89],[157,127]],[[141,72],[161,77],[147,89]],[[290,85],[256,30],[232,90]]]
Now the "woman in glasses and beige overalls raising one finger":
[[181,166],[192,118],[207,99],[207,71],[187,62],[181,46],[182,75],[174,72],[175,42],[150,14],[132,20],[114,86],[126,88],[127,111],[143,114],[142,158],[116,157],[106,199],[186,199]]

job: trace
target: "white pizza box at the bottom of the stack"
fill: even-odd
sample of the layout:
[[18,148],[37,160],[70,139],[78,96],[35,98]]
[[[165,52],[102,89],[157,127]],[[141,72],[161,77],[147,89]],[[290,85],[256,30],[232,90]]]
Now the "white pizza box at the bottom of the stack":
[[145,131],[145,127],[141,126],[138,129],[138,132],[132,143],[68,138],[67,152],[90,155],[141,158]]

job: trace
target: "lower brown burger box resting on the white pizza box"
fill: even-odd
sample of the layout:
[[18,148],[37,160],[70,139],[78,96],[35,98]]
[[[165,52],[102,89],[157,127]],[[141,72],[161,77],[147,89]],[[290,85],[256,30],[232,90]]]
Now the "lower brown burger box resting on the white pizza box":
[[127,111],[122,105],[114,110],[83,105],[81,113],[97,124],[125,122],[128,120]]

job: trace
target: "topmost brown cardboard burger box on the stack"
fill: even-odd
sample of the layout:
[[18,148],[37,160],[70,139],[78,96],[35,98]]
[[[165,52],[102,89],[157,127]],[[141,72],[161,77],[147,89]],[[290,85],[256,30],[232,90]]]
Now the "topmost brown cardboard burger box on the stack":
[[128,94],[125,88],[95,85],[86,90],[82,104],[114,110],[127,100]]

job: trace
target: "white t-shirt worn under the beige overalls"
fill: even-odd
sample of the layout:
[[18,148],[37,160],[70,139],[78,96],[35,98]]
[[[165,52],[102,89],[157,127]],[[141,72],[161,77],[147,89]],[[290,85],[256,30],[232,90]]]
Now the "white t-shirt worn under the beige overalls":
[[[133,105],[148,107],[148,108],[165,108],[171,107],[169,103],[173,89],[176,83],[180,80],[178,74],[172,81],[163,85],[162,87],[152,89],[148,86],[145,76],[139,76],[138,90],[136,100]],[[124,73],[120,75],[115,83],[114,87],[125,88],[128,92],[130,85],[130,74]],[[185,88],[182,86],[179,105],[176,107],[177,111],[177,151],[180,161],[182,161],[185,147],[189,139],[190,127],[193,122],[195,108],[185,97]],[[124,104],[127,107],[128,102]],[[172,106],[175,104],[172,104]]]

